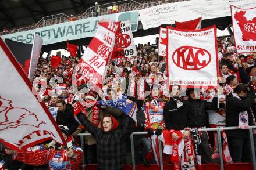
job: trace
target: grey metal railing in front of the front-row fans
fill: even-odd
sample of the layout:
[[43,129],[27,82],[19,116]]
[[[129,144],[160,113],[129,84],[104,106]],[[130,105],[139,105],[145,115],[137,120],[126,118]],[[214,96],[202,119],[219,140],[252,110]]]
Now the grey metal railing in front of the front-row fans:
[[[222,142],[221,142],[221,132],[222,131],[232,131],[232,130],[237,130],[239,128],[237,127],[219,127],[219,128],[206,128],[206,129],[198,129],[198,131],[201,132],[209,132],[209,131],[216,131],[217,132],[217,140],[218,140],[218,149],[219,149],[219,161],[221,164],[221,170],[224,170],[224,162],[223,162],[223,155],[222,155]],[[254,148],[254,139],[253,139],[253,129],[256,129],[256,126],[250,126],[248,131],[249,131],[249,136],[250,136],[250,145],[251,145],[251,158],[253,160],[253,167],[254,170],[256,170],[256,156],[255,156],[255,148]],[[130,140],[131,140],[131,158],[132,158],[132,166],[133,170],[135,170],[135,153],[134,153],[134,135],[147,135],[147,132],[133,132],[130,135]],[[84,150],[84,136],[91,136],[90,133],[79,133],[80,139],[81,139],[81,149]],[[256,141],[255,141],[256,142]],[[162,158],[162,145],[161,145],[161,140],[158,138],[158,145],[159,145],[159,160],[160,160],[160,168],[163,170],[163,158]],[[84,159],[83,159],[83,165],[84,165]],[[83,166],[83,170],[85,167]]]

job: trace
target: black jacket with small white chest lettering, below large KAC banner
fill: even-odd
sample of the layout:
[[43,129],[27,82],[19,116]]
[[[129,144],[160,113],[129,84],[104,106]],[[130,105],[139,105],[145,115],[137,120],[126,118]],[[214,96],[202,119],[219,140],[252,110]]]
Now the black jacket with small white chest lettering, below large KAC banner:
[[192,128],[194,126],[193,117],[192,106],[188,101],[183,101],[183,105],[177,108],[176,102],[170,99],[163,108],[166,129],[183,130],[187,127]]

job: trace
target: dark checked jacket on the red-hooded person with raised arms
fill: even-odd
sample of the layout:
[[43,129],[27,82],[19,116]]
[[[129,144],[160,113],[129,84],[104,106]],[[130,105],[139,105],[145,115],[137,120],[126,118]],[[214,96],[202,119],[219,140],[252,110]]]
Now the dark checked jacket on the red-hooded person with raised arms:
[[83,113],[76,115],[80,124],[96,139],[98,168],[102,170],[122,169],[125,163],[126,137],[133,132],[135,122],[123,112],[121,117],[118,129],[104,132],[91,124]]

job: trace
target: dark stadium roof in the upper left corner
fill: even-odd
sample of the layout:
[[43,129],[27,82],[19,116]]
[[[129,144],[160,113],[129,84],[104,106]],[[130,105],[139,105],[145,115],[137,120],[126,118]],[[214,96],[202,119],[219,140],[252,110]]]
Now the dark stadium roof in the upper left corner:
[[[83,13],[95,0],[1,0],[0,28],[19,27],[35,24],[42,17],[64,13],[70,16]],[[98,0],[99,4],[113,1]]]

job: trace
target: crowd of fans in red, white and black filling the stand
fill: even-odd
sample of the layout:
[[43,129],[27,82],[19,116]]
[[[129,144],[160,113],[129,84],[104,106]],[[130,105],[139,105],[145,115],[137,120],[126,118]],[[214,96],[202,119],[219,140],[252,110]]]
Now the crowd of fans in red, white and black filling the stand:
[[[70,142],[69,150],[52,142],[28,151],[5,149],[5,169],[44,169],[47,163],[54,167],[60,161],[56,161],[55,152],[66,153],[60,162],[70,161],[72,169],[79,169],[83,155],[86,164],[98,164],[100,169],[122,169],[130,153],[129,135],[136,131],[148,132],[148,135],[134,136],[136,164],[159,164],[157,137],[164,142],[164,164],[170,160],[175,166],[199,162],[185,151],[188,149],[195,150],[202,163],[219,162],[222,153],[218,153],[218,147],[223,147],[226,163],[252,161],[246,129],[256,125],[255,54],[237,55],[233,37],[218,38],[219,87],[197,89],[166,85],[166,56],[158,56],[158,42],[136,47],[138,56],[110,61],[102,93],[95,91],[88,79],[79,74],[76,66],[80,56],[62,56],[58,68],[51,68],[51,57],[40,58],[33,85]],[[146,91],[150,93],[146,95]],[[136,120],[118,108],[97,106],[97,100],[135,103]],[[218,146],[215,133],[198,132],[201,128],[218,126],[240,129],[223,133],[223,146]],[[88,132],[93,136],[84,138],[84,150],[81,150],[76,144],[81,142],[78,134]],[[179,156],[168,150],[168,143],[177,144],[180,149],[182,142],[184,153],[173,147],[179,153],[180,163]],[[168,152],[172,154],[171,159]],[[10,155],[16,155],[16,160]],[[37,159],[31,161],[27,157]]]

